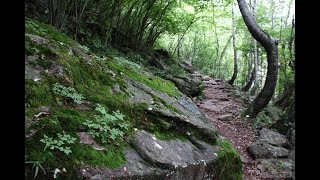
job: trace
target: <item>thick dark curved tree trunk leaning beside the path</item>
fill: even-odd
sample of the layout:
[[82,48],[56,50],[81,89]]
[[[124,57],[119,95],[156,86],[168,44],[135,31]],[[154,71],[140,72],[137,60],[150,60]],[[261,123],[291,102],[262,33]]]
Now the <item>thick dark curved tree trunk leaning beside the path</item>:
[[237,0],[243,17],[251,35],[264,47],[267,52],[268,71],[265,84],[261,92],[249,107],[250,118],[255,118],[271,100],[277,84],[278,76],[278,42],[265,33],[256,23],[248,10],[245,0]]

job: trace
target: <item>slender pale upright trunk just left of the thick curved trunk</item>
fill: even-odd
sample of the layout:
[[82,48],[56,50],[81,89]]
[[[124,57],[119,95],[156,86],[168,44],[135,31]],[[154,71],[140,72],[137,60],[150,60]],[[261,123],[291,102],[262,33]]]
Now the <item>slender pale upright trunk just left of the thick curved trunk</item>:
[[233,75],[228,81],[230,85],[234,83],[234,80],[237,78],[238,74],[238,63],[237,63],[237,49],[236,49],[236,20],[234,16],[234,4],[232,4],[232,38],[233,38]]

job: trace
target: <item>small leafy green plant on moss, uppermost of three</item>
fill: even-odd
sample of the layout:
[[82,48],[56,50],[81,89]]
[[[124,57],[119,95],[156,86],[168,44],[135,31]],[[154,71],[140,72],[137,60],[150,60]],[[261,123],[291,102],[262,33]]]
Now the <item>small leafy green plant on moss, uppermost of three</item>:
[[72,87],[64,87],[61,84],[53,84],[53,92],[60,96],[71,98],[75,103],[82,104],[84,97],[82,94],[77,93],[77,91]]

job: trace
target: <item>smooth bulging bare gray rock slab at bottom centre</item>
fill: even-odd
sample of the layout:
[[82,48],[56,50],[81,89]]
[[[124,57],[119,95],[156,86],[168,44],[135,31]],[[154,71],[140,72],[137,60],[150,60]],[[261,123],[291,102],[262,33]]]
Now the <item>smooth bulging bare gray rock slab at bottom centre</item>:
[[210,163],[217,156],[218,147],[201,143],[205,149],[200,150],[190,141],[161,141],[146,131],[138,131],[132,144],[143,159],[163,168],[176,169],[200,161]]

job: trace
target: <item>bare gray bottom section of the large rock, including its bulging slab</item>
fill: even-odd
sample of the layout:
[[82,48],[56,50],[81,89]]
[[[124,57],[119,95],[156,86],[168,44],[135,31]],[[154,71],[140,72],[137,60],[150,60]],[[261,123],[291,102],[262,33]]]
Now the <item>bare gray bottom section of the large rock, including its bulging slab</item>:
[[[116,169],[83,166],[77,171],[77,177],[95,180],[202,180],[216,179],[221,177],[219,173],[227,170],[226,165],[221,164],[225,162],[219,161],[219,158],[226,158],[220,157],[221,147],[219,146],[198,141],[205,147],[199,149],[188,140],[163,141],[144,130],[138,130],[130,141],[134,149],[125,150],[126,164]],[[233,160],[231,163],[235,163]],[[230,173],[241,172],[231,170]]]

